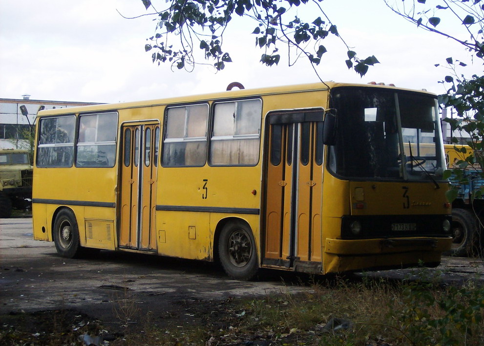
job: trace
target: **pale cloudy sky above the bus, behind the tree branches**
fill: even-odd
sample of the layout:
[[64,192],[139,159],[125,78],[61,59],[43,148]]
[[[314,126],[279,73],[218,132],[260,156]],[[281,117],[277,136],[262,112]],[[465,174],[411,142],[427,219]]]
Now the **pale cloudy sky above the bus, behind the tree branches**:
[[[404,21],[383,0],[320,4],[358,57],[375,55],[380,62],[361,78],[344,63],[346,47],[332,38],[323,43],[328,52],[317,67],[325,81],[393,83],[440,94],[445,89],[438,81],[448,71],[434,65],[447,57],[468,64],[462,70],[468,76],[483,73],[482,61],[472,64],[461,45]],[[315,17],[300,7],[298,16]],[[118,103],[222,91],[231,82],[255,88],[318,81],[304,60],[288,67],[282,56],[278,66],[261,65],[263,51],[251,35],[256,25],[237,19],[226,33],[233,62],[224,70],[172,71],[145,52],[153,17],[124,19],[118,11],[126,17],[147,13],[141,0],[0,0],[0,98]]]

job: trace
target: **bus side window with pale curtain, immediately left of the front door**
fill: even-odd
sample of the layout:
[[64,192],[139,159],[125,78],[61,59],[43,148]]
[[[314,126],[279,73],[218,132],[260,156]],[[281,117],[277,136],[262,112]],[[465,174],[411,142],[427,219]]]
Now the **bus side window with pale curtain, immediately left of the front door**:
[[215,105],[210,142],[212,166],[255,166],[259,162],[261,100]]

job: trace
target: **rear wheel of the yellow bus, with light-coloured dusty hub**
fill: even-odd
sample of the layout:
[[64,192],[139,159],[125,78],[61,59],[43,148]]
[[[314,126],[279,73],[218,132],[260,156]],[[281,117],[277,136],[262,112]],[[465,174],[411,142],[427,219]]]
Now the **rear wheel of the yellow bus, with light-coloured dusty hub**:
[[62,257],[72,259],[82,252],[79,242],[79,227],[76,216],[70,209],[63,209],[57,214],[52,234],[57,253]]

